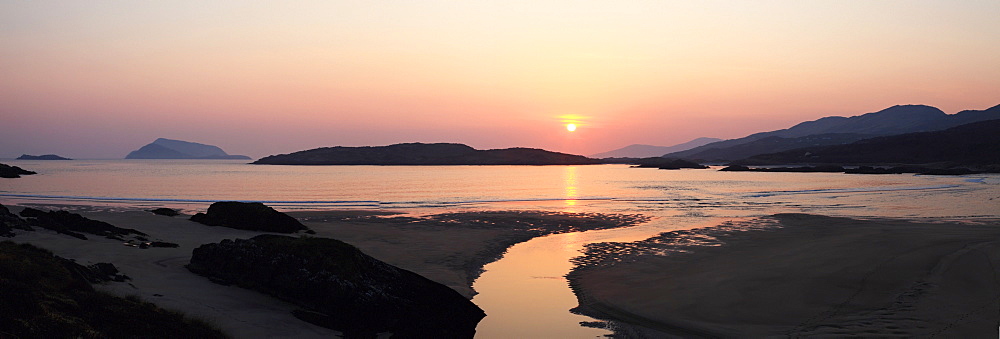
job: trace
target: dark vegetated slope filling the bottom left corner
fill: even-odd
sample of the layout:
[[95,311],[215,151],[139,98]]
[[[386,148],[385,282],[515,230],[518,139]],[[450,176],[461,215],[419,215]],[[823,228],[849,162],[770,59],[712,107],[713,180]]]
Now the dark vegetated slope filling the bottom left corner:
[[95,291],[89,270],[44,249],[0,242],[0,337],[225,337],[138,298]]

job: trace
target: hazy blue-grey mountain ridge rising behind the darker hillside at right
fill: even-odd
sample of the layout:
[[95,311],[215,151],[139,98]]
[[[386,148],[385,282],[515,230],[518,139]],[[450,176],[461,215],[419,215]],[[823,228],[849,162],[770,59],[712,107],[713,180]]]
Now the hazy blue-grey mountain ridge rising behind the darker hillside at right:
[[[876,136],[939,131],[993,119],[1000,119],[1000,105],[951,115],[925,105],[900,105],[853,117],[835,116],[806,121],[787,129],[719,141],[664,157],[729,161],[803,146],[838,145]],[[763,140],[766,138],[772,139]]]

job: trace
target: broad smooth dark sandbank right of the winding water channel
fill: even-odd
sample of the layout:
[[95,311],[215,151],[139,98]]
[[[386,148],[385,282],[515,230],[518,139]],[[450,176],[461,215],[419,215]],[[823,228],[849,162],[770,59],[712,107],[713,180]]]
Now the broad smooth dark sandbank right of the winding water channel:
[[577,311],[657,335],[994,337],[1000,326],[998,220],[778,214],[594,244],[576,261]]

